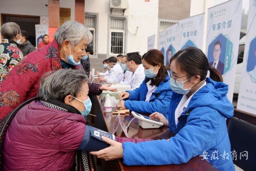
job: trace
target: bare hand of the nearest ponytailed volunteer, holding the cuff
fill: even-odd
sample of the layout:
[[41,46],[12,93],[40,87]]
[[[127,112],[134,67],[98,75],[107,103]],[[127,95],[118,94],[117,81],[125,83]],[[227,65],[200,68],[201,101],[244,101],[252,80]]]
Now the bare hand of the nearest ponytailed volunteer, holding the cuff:
[[110,144],[109,147],[96,152],[90,152],[91,155],[96,155],[98,158],[105,160],[115,160],[123,158],[123,145],[120,142],[110,140],[107,137],[102,136],[102,140]]

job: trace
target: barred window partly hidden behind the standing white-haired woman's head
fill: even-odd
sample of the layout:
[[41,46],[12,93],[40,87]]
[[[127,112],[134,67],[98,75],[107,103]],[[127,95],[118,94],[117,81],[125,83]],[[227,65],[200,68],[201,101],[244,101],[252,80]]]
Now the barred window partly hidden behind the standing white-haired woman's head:
[[95,53],[95,35],[96,35],[96,16],[95,15],[85,15],[85,26],[90,30],[93,35],[93,40],[90,42],[90,46]]

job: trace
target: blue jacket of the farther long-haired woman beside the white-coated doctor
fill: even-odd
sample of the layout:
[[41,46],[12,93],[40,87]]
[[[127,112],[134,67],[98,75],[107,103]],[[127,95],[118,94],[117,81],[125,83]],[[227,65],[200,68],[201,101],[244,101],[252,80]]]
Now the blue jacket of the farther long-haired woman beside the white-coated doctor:
[[[146,79],[146,78],[145,78]],[[152,93],[149,101],[146,100],[146,94],[148,93],[148,87],[146,82],[141,83],[139,88],[132,91],[126,91],[130,93],[129,98],[125,99],[125,107],[130,111],[152,114],[153,112],[162,113],[168,119],[169,105],[171,102],[172,90],[170,88],[170,77],[167,75],[167,82],[162,81],[155,92]]]

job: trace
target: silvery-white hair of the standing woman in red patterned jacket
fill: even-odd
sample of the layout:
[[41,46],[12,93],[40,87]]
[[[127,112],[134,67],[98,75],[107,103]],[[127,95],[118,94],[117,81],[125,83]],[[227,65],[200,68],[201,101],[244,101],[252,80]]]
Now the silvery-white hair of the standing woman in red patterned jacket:
[[89,44],[93,40],[92,33],[88,28],[77,21],[67,21],[57,29],[53,37],[57,40],[59,48],[64,40],[70,41],[74,48],[81,40],[86,39]]

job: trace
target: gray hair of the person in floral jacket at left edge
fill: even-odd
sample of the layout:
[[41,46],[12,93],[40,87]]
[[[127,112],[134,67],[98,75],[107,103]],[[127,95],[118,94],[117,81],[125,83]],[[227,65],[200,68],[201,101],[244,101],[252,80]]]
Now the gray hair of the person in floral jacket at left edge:
[[4,38],[13,40],[17,34],[21,34],[21,29],[16,23],[8,22],[1,27],[1,34]]

